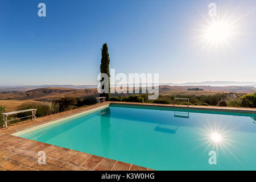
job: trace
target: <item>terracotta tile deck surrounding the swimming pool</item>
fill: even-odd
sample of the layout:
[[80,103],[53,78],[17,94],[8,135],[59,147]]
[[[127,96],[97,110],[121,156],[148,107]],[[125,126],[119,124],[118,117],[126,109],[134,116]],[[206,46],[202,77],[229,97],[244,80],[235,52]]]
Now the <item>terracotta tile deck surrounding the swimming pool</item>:
[[[118,104],[135,104],[143,106],[165,106],[174,107],[174,105],[161,105],[161,104],[141,104],[141,103],[127,103],[127,102],[104,102],[102,104],[82,107],[79,109],[65,111],[49,115],[47,117],[38,118],[36,122],[20,122],[15,125],[9,126],[7,129],[0,129],[0,171],[6,170],[21,170],[21,171],[65,171],[65,170],[142,170],[151,171],[152,169],[135,166],[119,162],[117,160],[106,159],[100,156],[86,154],[84,152],[70,150],[68,148],[57,147],[51,144],[36,142],[34,140],[15,137],[11,134],[16,131],[21,131],[54,121],[56,119],[65,118],[73,114],[81,113],[86,110],[95,109],[100,106],[109,105],[111,103]],[[187,108],[187,106],[175,106],[179,108]],[[256,109],[247,108],[232,108],[232,107],[209,107],[209,106],[189,106],[189,109],[205,109],[205,110],[225,110],[225,111],[242,111],[249,113],[256,113]],[[46,152],[46,164],[38,164],[39,151]]]

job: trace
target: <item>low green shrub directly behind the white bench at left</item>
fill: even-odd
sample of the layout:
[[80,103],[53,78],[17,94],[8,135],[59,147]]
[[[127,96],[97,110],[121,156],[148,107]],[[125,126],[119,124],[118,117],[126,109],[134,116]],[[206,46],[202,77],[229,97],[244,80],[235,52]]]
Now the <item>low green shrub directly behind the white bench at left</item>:
[[[46,115],[51,114],[51,106],[47,103],[43,102],[25,102],[22,105],[17,107],[17,110],[26,110],[26,109],[37,109],[36,110],[36,117],[43,117]],[[18,117],[27,117],[31,115],[30,112],[27,113],[19,113]]]

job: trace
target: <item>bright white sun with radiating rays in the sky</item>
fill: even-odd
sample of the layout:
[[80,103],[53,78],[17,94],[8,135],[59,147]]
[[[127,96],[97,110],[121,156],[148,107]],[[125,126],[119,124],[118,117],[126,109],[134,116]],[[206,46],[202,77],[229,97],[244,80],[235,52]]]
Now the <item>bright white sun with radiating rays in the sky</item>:
[[193,21],[193,29],[188,29],[193,32],[193,46],[200,46],[201,49],[209,48],[209,50],[228,50],[231,48],[238,53],[235,44],[241,39],[241,35],[247,35],[244,31],[245,23],[242,21],[247,15],[253,11],[248,11],[246,14],[230,13],[228,10],[225,13],[218,12],[217,16],[210,17],[201,14],[200,22]]

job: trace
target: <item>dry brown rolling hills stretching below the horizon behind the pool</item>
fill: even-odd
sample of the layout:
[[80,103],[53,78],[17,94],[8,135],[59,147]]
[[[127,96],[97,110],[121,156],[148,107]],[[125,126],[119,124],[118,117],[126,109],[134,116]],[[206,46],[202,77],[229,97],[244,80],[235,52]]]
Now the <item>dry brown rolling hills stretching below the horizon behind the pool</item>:
[[[188,90],[189,88],[198,88],[201,90]],[[138,90],[138,88],[134,88]],[[170,86],[160,85],[159,94],[162,95],[214,95],[223,92],[236,92],[236,93],[253,93],[256,90],[253,86],[201,86],[201,85],[188,85],[188,86]],[[0,100],[53,100],[61,97],[84,97],[95,95],[98,96],[96,88],[91,89],[74,89],[74,88],[60,88],[60,87],[47,87],[27,90],[25,92],[9,91],[0,93]],[[122,94],[125,96],[127,94]],[[121,96],[120,94],[112,94],[111,96]]]

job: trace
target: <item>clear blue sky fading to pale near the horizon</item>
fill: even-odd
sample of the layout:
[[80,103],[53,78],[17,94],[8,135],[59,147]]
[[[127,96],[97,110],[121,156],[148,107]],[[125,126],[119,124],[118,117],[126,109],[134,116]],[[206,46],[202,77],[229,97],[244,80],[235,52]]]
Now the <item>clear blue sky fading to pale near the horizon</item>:
[[[46,17],[38,16],[40,2]],[[210,2],[218,15],[229,10],[238,19],[230,46],[197,38]],[[173,83],[256,81],[256,2],[220,2],[0,0],[0,86],[97,84],[105,42],[116,73],[159,73],[160,82]]]

